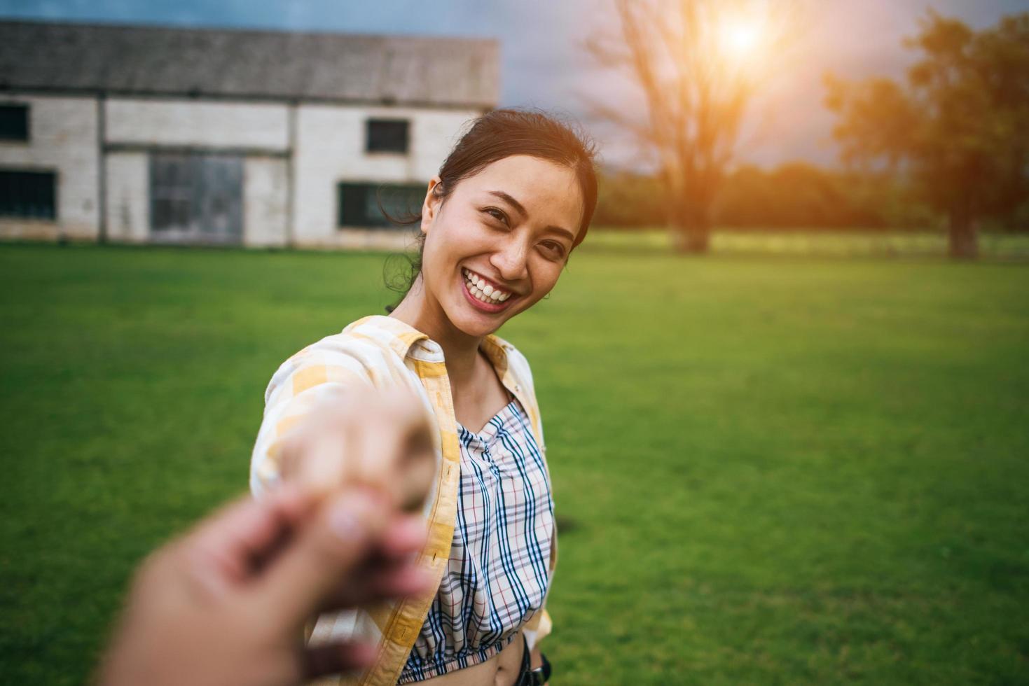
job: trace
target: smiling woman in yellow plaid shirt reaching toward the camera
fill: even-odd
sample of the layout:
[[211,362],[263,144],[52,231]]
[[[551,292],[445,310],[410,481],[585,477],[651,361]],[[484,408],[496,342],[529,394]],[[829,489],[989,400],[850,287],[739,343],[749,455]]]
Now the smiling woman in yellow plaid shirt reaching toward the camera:
[[419,564],[438,585],[322,615],[312,631],[313,643],[377,642],[376,663],[354,683],[544,683],[538,644],[557,558],[546,448],[529,364],[494,332],[554,288],[596,201],[594,151],[573,130],[538,112],[482,116],[429,181],[399,303],[273,376],[251,465],[258,496],[283,478],[290,432],[341,394],[407,389],[431,420],[435,475]]

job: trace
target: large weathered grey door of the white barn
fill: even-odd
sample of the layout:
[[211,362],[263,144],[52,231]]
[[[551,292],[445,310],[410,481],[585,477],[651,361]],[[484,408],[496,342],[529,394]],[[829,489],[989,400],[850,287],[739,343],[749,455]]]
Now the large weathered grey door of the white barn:
[[150,239],[158,243],[240,243],[243,158],[193,152],[152,153]]

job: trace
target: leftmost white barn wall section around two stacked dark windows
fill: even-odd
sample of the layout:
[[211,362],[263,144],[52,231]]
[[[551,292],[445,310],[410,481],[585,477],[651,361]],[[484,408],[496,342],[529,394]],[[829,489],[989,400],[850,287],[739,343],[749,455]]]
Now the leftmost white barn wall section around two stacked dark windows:
[[0,103],[29,105],[29,140],[0,141],[0,168],[57,172],[57,221],[0,217],[0,237],[99,236],[97,101],[3,94]]

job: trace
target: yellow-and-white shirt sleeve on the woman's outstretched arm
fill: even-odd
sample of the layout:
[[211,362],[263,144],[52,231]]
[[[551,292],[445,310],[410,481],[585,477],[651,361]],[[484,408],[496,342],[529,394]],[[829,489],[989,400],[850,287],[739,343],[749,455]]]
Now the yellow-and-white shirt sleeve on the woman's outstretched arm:
[[372,387],[365,365],[339,345],[315,344],[283,362],[264,392],[264,417],[250,458],[254,497],[281,480],[280,454],[291,428],[341,394]]

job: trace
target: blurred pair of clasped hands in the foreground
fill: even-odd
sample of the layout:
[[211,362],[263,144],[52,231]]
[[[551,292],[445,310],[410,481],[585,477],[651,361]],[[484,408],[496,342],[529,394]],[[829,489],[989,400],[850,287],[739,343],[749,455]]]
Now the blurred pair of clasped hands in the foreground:
[[[359,411],[363,435],[340,431],[353,417],[341,424],[326,414],[332,422],[309,427],[290,448],[304,479],[228,505],[152,553],[100,683],[278,686],[370,664],[374,645],[308,648],[303,627],[318,612],[431,584],[412,555],[425,543],[424,522],[400,507],[424,502],[432,474],[413,402],[369,403]],[[385,488],[385,474],[404,465],[421,476]]]

